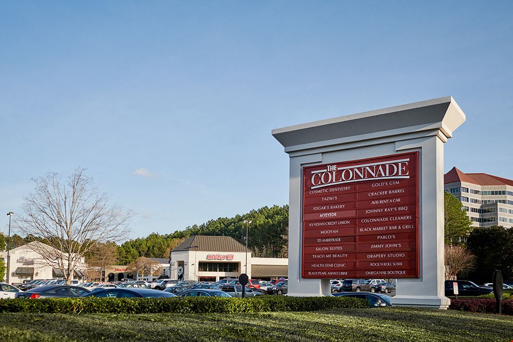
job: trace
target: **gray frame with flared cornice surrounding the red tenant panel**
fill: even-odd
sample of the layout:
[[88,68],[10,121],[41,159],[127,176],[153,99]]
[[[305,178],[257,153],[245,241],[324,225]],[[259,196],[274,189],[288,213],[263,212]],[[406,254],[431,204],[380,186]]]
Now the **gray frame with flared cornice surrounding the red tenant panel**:
[[419,152],[420,278],[397,280],[396,306],[447,309],[444,295],[444,144],[465,122],[451,97],[278,128],[289,155],[289,281],[292,296],[330,295],[329,279],[301,277],[302,170],[402,152]]

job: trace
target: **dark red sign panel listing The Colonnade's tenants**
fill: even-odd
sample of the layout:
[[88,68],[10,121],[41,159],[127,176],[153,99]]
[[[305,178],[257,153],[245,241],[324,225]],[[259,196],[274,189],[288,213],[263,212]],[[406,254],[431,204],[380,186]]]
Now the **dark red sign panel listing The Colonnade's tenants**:
[[419,277],[419,153],[303,169],[303,278]]

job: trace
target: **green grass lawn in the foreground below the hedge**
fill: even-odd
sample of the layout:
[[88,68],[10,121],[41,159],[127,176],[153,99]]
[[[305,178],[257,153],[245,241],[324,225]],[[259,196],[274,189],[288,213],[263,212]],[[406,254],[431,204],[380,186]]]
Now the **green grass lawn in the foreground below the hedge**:
[[411,308],[253,314],[0,314],[2,341],[510,341],[513,317]]

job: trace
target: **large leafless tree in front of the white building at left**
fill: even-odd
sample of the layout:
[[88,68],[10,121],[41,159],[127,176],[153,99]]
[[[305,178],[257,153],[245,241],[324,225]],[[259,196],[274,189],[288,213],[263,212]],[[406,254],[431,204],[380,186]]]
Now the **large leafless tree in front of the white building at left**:
[[84,169],[76,169],[66,182],[56,173],[32,180],[35,189],[25,197],[24,213],[15,226],[43,243],[29,245],[47,265],[60,269],[70,284],[75,268],[96,243],[126,237],[131,212],[110,204],[109,196],[98,192]]

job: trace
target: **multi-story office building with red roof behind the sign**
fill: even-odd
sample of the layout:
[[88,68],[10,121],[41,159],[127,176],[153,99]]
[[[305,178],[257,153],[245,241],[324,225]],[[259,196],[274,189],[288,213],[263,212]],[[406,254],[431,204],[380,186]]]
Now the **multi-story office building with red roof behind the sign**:
[[456,167],[444,176],[445,191],[463,204],[475,227],[513,227],[513,180]]

